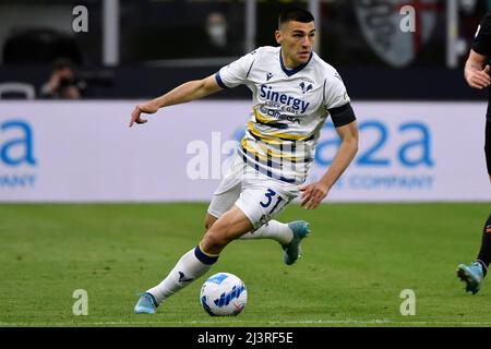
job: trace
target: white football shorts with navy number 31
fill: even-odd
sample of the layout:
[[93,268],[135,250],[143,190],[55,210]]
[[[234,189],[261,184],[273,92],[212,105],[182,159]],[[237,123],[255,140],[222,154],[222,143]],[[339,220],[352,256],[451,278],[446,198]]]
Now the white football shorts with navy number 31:
[[213,194],[208,214],[219,218],[233,205],[240,208],[254,229],[280,213],[300,193],[300,185],[258,172],[240,155],[230,165]]

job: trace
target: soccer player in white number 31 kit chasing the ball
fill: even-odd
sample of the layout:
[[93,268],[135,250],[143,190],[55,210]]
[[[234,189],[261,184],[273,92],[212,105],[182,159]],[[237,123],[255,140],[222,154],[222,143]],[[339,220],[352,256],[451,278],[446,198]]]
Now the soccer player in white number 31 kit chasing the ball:
[[[315,209],[358,149],[358,127],[346,87],[336,70],[312,51],[314,35],[310,12],[286,9],[275,32],[279,47],[260,47],[214,75],[135,107],[130,127],[147,121],[142,112],[155,113],[241,84],[251,89],[253,101],[237,156],[209,204],[203,239],[160,284],[141,294],[135,313],[155,313],[168,297],[203,276],[232,240],[273,239],[282,245],[287,265],[298,258],[309,224],[272,218],[299,195],[302,207]],[[326,173],[304,184],[328,116],[340,146]]]

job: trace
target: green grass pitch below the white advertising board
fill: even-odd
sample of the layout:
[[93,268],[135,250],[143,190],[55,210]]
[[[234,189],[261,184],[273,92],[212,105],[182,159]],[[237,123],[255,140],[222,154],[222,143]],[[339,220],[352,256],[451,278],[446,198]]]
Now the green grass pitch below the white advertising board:
[[[490,326],[491,285],[476,296],[455,276],[476,256],[489,204],[289,206],[312,234],[292,266],[278,243],[235,241],[206,276],[229,272],[249,301],[237,317],[200,305],[205,277],[155,315],[135,293],[156,285],[203,234],[203,203],[0,205],[0,326]],[[88,293],[88,315],[72,312]],[[416,293],[416,315],[399,312]]]

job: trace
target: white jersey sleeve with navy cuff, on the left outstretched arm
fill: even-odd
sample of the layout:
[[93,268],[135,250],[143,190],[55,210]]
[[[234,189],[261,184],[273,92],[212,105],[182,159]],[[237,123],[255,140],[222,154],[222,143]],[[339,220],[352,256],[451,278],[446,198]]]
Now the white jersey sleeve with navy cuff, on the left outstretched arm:
[[223,67],[215,74],[218,85],[223,88],[230,88],[246,84],[249,77],[249,73],[251,72],[252,65],[254,64],[258,56],[258,50],[254,50],[248,55],[242,56],[237,61]]

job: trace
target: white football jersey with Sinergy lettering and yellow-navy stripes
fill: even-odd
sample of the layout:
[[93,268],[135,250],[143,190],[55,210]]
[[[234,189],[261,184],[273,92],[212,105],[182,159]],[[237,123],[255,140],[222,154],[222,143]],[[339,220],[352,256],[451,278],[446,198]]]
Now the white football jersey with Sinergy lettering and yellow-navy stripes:
[[258,171],[289,183],[303,183],[328,109],[349,104],[337,71],[312,53],[288,70],[280,47],[260,47],[216,73],[226,87],[252,91],[251,119],[240,142],[242,159]]

